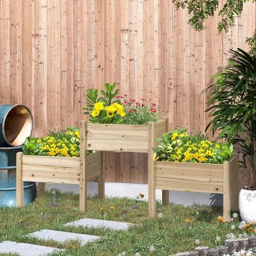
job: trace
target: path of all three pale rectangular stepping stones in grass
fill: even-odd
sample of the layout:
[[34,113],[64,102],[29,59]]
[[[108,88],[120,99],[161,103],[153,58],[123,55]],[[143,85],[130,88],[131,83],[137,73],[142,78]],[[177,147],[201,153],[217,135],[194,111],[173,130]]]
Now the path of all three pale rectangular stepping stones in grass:
[[[74,226],[74,227],[89,227],[89,228],[100,228],[106,227],[113,230],[127,230],[132,224],[125,223],[120,221],[109,221],[109,220],[97,220],[84,218],[77,221],[72,221],[66,223],[65,226]],[[88,242],[95,241],[99,239],[99,236],[90,236],[86,234],[77,234],[72,232],[63,232],[56,230],[39,230],[28,234],[28,236],[36,237],[38,239],[49,240],[65,243],[68,240],[79,240],[81,245],[84,245]],[[0,253],[18,253],[20,256],[43,256],[47,253],[52,253],[54,250],[60,250],[52,248],[49,246],[40,246],[36,244],[28,243],[16,243],[12,241],[3,241],[0,243]]]

